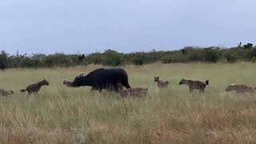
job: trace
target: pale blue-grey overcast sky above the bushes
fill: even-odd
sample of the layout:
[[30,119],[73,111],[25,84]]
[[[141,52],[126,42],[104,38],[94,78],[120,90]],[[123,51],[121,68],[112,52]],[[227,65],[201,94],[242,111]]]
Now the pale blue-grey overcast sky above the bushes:
[[0,50],[130,53],[256,44],[255,0],[1,0]]

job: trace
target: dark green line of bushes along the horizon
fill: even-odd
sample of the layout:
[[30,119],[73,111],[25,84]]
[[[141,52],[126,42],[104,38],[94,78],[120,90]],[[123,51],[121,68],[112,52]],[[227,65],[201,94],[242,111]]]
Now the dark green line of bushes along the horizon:
[[0,69],[6,68],[39,68],[54,66],[78,66],[98,64],[103,66],[122,66],[127,64],[144,65],[153,62],[186,63],[186,62],[256,62],[256,47],[194,47],[187,46],[182,50],[119,53],[105,50],[88,55],[79,54],[26,54],[10,55],[5,51],[0,54]]

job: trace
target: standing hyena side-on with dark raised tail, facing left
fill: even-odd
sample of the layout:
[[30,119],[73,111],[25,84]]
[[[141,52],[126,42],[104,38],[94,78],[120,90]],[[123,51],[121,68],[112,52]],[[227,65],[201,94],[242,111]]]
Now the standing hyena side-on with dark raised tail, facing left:
[[192,80],[186,80],[182,78],[181,82],[179,82],[179,85],[185,84],[190,87],[190,93],[193,90],[199,90],[199,93],[203,93],[206,89],[206,86],[209,85],[209,81],[206,80],[206,82],[201,81],[192,81]]

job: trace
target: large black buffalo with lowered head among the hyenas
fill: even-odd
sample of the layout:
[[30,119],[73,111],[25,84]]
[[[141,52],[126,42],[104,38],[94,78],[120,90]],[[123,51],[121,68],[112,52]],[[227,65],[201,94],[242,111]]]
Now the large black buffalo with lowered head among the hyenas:
[[113,69],[97,69],[86,76],[80,74],[76,78],[74,78],[73,82],[70,82],[64,79],[63,84],[71,87],[79,87],[79,86],[92,86],[91,90],[115,90],[118,91],[118,82],[122,83],[126,89],[130,88],[128,83],[128,75],[126,71],[121,68],[113,68]]

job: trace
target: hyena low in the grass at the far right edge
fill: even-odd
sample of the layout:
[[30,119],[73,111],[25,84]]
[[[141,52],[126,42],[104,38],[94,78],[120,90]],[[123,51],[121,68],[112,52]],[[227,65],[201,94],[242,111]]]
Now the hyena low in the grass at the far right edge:
[[253,87],[247,86],[244,84],[231,84],[230,86],[226,87],[226,91],[234,90],[236,93],[254,93]]

